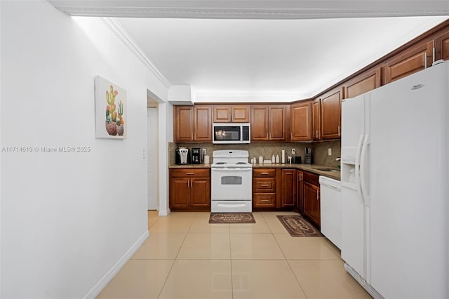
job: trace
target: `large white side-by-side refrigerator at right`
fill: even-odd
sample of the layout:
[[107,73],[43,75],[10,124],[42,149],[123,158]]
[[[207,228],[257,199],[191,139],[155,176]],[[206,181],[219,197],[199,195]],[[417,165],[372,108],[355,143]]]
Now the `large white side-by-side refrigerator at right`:
[[449,298],[449,64],[342,102],[342,259],[374,298]]

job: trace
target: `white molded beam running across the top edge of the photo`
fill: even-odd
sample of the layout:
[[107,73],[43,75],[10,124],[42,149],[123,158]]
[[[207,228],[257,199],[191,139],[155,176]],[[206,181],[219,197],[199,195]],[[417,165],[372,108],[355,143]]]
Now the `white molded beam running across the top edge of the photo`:
[[48,0],[69,15],[126,18],[311,19],[449,15],[447,0]]

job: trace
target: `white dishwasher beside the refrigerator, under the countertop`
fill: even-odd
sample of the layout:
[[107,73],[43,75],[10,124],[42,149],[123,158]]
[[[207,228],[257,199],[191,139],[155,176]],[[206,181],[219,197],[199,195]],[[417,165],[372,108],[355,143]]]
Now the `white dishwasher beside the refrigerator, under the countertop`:
[[335,246],[342,241],[342,183],[320,175],[321,233]]

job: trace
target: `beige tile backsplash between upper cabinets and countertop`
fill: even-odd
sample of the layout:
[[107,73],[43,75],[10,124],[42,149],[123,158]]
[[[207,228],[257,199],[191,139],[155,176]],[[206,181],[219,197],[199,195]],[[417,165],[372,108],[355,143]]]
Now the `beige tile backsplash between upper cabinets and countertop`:
[[[279,154],[281,158],[282,150],[286,150],[287,157],[301,157],[301,162],[304,163],[304,148],[311,147],[313,163],[325,166],[337,167],[340,162],[335,161],[340,157],[340,140],[323,141],[314,143],[297,143],[297,142],[253,142],[243,145],[213,145],[212,143],[174,143],[168,142],[168,165],[175,164],[175,150],[177,147],[200,147],[206,149],[206,154],[210,156],[210,163],[213,162],[212,152],[214,150],[248,150],[250,159],[262,156],[265,160],[271,160],[272,155],[276,157]],[[332,155],[328,155],[328,149],[331,149]],[[292,149],[296,150],[296,154],[292,154]],[[293,158],[294,159],[294,158]]]

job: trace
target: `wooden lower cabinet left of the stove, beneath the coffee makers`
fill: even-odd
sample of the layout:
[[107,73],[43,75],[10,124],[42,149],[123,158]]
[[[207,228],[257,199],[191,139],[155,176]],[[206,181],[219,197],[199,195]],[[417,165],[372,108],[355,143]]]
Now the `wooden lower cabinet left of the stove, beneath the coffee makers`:
[[210,211],[210,169],[170,168],[170,210]]

